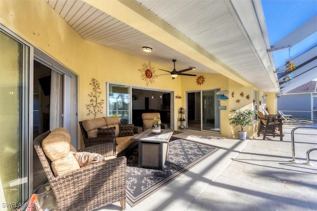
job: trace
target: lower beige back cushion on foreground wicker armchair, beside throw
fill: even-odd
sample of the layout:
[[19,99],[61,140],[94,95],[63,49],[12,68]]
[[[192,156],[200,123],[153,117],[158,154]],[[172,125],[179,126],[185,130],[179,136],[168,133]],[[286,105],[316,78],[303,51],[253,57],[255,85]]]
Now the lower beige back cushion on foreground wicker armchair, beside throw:
[[55,176],[60,176],[67,172],[80,169],[80,166],[73,156],[73,153],[69,152],[65,157],[52,161],[52,169]]

